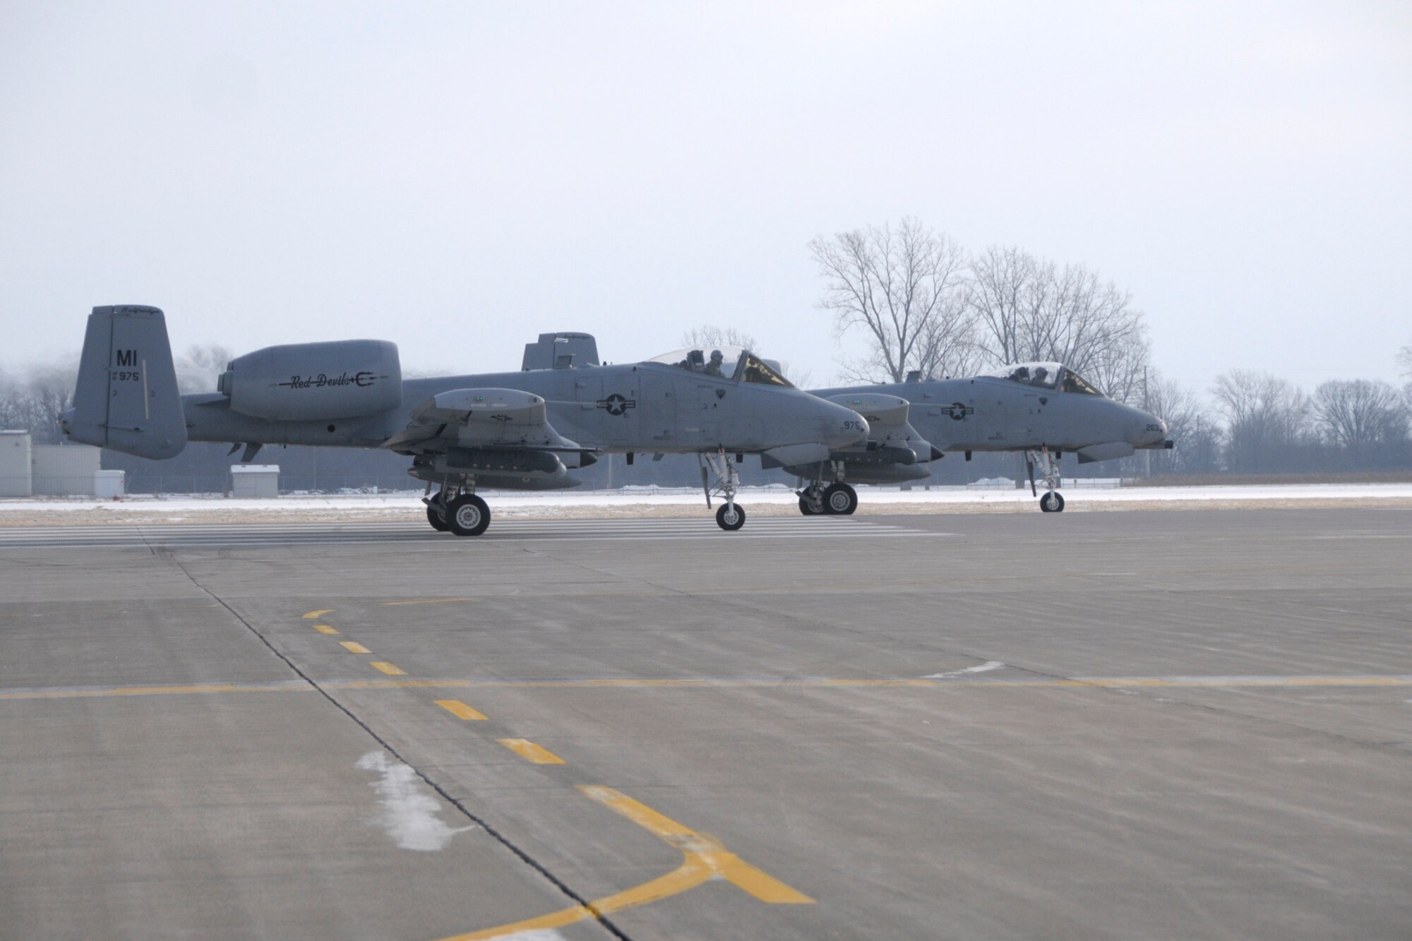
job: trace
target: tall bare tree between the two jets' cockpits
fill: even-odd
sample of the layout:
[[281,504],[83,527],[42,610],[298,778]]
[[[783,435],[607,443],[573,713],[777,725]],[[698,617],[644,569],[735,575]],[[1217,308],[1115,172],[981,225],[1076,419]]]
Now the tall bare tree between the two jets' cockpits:
[[847,379],[899,383],[911,370],[960,372],[957,356],[970,349],[966,253],[950,236],[904,218],[897,229],[819,236],[809,251],[825,280],[819,307],[833,312],[837,335],[864,335],[866,355],[840,360]]

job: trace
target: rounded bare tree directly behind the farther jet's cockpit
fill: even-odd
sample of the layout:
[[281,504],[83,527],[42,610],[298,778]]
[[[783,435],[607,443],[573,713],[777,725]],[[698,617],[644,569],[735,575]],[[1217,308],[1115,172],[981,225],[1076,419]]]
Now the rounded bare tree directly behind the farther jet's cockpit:
[[971,264],[969,287],[966,302],[993,363],[1060,362],[1120,400],[1141,390],[1147,328],[1113,281],[1082,264],[1059,268],[993,246]]

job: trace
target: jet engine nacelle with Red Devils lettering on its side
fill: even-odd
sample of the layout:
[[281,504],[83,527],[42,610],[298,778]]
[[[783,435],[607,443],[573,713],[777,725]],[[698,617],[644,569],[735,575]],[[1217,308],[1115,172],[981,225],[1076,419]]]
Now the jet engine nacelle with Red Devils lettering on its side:
[[402,365],[387,341],[267,346],[230,360],[217,389],[253,418],[360,418],[402,404]]

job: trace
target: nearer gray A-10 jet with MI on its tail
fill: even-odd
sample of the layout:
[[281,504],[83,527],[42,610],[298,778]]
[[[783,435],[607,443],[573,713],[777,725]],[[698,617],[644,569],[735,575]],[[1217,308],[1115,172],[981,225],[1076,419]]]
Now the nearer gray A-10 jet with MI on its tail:
[[[544,333],[521,372],[402,379],[397,346],[339,341],[270,346],[230,362],[212,393],[181,396],[167,324],[154,307],[96,307],[88,321],[73,407],[73,441],[143,458],[171,458],[188,441],[385,448],[426,482],[436,530],[479,535],[490,509],[477,487],[576,486],[569,469],[604,452],[696,454],[707,504],[738,530],[737,462],[820,463],[867,439],[858,413],[795,389],[751,353],[706,362],[604,366],[586,333]],[[707,480],[707,469],[714,485]],[[432,489],[436,493],[432,495]]]

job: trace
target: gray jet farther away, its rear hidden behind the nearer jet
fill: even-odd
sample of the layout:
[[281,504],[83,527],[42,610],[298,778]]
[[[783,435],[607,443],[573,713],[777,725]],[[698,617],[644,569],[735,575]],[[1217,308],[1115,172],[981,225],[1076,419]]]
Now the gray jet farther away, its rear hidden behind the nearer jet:
[[922,466],[947,452],[1022,451],[1035,489],[1039,465],[1046,492],[1039,497],[1045,513],[1063,510],[1059,490],[1059,458],[1065,451],[1080,463],[1125,458],[1138,448],[1171,448],[1166,422],[1141,408],[1124,406],[1100,393],[1060,363],[1018,363],[967,379],[908,377],[905,383],[819,389],[815,394],[846,406],[867,418],[868,441],[840,448],[818,463],[777,463],[806,485],[799,490],[799,511],[853,513],[858,506],[854,483],[922,480]]

